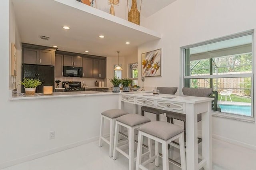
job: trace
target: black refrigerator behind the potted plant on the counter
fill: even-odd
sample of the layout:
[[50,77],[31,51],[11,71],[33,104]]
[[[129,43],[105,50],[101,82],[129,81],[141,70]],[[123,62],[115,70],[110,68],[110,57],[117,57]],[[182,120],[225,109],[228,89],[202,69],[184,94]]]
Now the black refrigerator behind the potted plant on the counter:
[[[43,81],[43,85],[36,88],[36,93],[43,93],[44,85],[52,85],[54,92],[54,66],[22,64],[22,80],[24,78],[33,78]],[[25,93],[23,85],[22,93]]]

